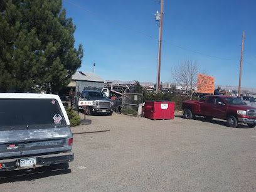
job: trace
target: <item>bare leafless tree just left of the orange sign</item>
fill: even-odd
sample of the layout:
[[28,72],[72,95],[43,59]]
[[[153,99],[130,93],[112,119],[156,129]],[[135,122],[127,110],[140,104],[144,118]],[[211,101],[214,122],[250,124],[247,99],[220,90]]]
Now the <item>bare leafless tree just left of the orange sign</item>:
[[176,84],[184,89],[191,100],[197,83],[197,63],[191,60],[183,61],[180,65],[174,66],[172,75]]

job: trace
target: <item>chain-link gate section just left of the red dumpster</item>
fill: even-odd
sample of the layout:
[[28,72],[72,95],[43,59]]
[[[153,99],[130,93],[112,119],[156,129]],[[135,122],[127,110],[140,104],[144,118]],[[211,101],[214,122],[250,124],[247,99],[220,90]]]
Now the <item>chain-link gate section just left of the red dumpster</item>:
[[125,93],[122,95],[121,113],[127,115],[141,115],[143,94]]

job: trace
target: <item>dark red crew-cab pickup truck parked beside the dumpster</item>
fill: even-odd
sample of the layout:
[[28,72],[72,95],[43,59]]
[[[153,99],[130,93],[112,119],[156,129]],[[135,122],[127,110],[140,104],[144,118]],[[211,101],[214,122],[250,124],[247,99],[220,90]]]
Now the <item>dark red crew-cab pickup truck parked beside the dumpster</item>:
[[248,127],[256,125],[256,108],[245,105],[239,97],[206,95],[198,101],[184,101],[183,110],[186,119],[193,119],[198,115],[206,119],[225,119],[230,127],[237,127],[238,122],[245,123]]

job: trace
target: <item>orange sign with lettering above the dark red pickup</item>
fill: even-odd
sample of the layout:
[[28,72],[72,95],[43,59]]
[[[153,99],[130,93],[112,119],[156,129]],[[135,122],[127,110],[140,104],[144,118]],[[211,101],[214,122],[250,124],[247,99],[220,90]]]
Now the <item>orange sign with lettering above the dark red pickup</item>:
[[214,93],[214,77],[198,73],[196,91],[198,93]]

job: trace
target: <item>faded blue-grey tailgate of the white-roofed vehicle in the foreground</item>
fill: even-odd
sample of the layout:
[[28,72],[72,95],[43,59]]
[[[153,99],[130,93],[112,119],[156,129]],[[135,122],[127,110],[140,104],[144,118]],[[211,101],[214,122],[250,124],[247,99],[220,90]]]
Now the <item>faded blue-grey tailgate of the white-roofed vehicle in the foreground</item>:
[[0,131],[0,159],[51,152],[70,151],[68,127]]

